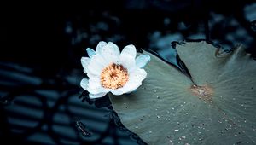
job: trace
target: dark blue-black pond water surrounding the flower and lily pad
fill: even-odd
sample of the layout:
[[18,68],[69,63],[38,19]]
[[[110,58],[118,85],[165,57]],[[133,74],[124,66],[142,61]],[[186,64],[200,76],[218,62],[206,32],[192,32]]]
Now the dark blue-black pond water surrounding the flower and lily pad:
[[[80,58],[99,41],[152,49],[172,63],[172,41],[184,39],[205,39],[223,49],[243,44],[256,56],[253,0],[94,0],[2,8],[0,136],[8,142],[143,143],[119,125],[108,97],[90,101],[79,87],[85,77]],[[83,136],[78,120],[91,136]]]

